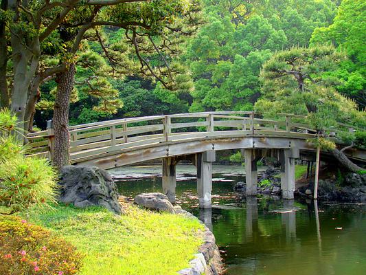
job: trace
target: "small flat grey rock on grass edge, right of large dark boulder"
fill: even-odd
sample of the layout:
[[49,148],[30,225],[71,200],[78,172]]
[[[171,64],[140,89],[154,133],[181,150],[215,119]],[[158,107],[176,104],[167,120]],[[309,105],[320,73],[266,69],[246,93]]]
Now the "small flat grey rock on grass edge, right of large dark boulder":
[[172,203],[168,200],[168,197],[159,192],[155,193],[142,193],[135,197],[134,202],[139,206],[148,208],[150,210],[166,211],[175,213]]

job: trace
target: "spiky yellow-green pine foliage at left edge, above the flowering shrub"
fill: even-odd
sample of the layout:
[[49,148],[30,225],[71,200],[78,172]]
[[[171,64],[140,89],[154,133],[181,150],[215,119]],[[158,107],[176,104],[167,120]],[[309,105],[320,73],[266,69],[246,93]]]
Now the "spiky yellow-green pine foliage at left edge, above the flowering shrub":
[[46,159],[25,157],[16,140],[16,117],[0,111],[0,212],[24,210],[36,203],[47,207],[56,195],[56,173]]

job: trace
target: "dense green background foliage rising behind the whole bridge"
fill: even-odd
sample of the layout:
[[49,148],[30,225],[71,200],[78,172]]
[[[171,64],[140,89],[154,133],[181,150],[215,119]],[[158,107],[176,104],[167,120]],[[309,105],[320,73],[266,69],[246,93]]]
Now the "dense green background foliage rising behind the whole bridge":
[[[137,76],[138,66],[132,62],[135,58],[126,58],[130,55],[128,47],[122,43],[126,41],[122,30],[99,30],[100,39],[112,56],[104,54],[98,39],[84,43],[87,52],[77,63],[77,96],[71,103],[71,124],[185,111],[252,110],[253,104],[267,94],[260,72],[274,54],[277,56],[277,52],[293,47],[330,42],[336,47],[336,51],[332,51],[338,65],[328,62],[329,67],[324,67],[318,62],[309,69],[323,86],[332,86],[337,93],[355,98],[358,106],[352,105],[352,108],[362,109],[365,106],[364,6],[363,1],[347,0],[305,3],[300,0],[205,0],[205,24],[194,38],[179,40],[184,47],[172,60],[165,58],[179,75],[175,78],[173,92],[164,85],[157,85],[151,75]],[[117,49],[122,49],[124,54],[118,55]],[[176,44],[174,49],[177,49]],[[91,56],[92,61],[86,62],[85,58]],[[117,66],[121,72],[116,73],[117,63],[110,57],[124,61],[123,68],[121,64]],[[144,52],[144,58],[149,58],[153,67],[163,62],[162,56],[148,50]],[[107,83],[89,81],[95,75]],[[124,78],[126,75],[128,77]],[[93,82],[92,85],[86,80]],[[103,96],[103,91],[93,94],[93,84],[96,87],[104,85],[111,91],[110,101],[108,96]],[[43,98],[52,100],[51,91],[55,85],[51,82],[42,86]],[[45,118],[52,118],[52,104],[41,100],[38,108],[36,124],[44,127]],[[304,113],[304,109],[296,112]]]

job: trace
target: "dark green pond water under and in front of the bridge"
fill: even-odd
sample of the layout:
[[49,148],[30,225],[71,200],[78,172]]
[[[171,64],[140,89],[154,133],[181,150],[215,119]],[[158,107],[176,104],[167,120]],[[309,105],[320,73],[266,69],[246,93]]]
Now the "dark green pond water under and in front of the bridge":
[[[198,209],[194,166],[177,166],[176,198],[214,232],[227,274],[366,274],[366,206],[245,198],[240,166],[213,166],[213,208]],[[161,192],[161,166],[111,170],[119,192]]]

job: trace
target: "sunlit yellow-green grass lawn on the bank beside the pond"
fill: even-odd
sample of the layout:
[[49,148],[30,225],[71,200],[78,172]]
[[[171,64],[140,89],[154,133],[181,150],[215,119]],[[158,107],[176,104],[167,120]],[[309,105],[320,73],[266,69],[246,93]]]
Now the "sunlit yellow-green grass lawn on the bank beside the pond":
[[56,232],[85,254],[81,274],[176,274],[202,243],[203,225],[179,215],[128,206],[116,216],[104,208],[56,206],[28,220]]

